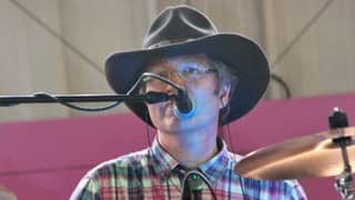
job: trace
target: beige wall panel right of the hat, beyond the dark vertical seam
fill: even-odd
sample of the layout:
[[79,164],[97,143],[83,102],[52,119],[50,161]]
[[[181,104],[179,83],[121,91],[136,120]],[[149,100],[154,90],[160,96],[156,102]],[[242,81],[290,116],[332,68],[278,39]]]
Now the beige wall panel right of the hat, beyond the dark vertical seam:
[[[327,1],[272,2],[265,7],[265,48],[274,63]],[[287,81],[295,97],[355,91],[355,1],[329,2],[288,53],[272,66],[272,71]],[[280,96],[274,92],[272,97]]]

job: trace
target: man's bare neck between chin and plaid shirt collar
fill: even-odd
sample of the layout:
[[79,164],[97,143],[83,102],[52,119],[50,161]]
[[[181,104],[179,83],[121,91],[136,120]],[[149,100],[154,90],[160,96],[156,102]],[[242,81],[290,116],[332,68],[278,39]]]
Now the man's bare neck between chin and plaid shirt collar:
[[216,128],[187,133],[158,131],[158,140],[163,149],[187,168],[195,168],[217,153],[216,136]]

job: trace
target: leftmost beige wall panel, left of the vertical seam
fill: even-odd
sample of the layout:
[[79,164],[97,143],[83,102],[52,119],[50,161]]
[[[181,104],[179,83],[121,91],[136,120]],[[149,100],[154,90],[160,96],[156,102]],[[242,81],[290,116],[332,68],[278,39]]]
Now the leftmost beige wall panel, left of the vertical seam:
[[[61,33],[58,1],[20,1]],[[0,1],[0,94],[68,92],[63,46],[9,1]],[[0,108],[0,120],[68,117],[60,106]]]

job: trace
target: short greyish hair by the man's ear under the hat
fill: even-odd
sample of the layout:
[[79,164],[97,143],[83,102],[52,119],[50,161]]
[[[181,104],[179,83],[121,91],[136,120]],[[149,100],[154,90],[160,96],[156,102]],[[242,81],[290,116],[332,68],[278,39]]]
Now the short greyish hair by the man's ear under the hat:
[[220,111],[219,123],[221,126],[230,113],[230,97],[233,96],[237,86],[237,76],[236,72],[232,71],[224,62],[209,56],[206,56],[206,58],[209,59],[211,67],[216,70],[216,94],[220,94],[225,86],[229,86],[231,88],[229,102],[224,104],[224,108],[222,108]]

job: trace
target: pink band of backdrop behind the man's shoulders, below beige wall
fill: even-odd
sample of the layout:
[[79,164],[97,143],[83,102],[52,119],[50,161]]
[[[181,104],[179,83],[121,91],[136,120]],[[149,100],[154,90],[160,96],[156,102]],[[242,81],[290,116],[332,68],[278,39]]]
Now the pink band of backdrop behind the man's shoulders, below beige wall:
[[[234,150],[246,153],[325,131],[333,107],[345,110],[354,124],[355,94],[261,102],[230,126]],[[3,123],[0,184],[14,191],[20,200],[68,199],[90,168],[146,146],[146,126],[132,114]],[[310,199],[339,199],[333,178],[303,179],[301,183]]]

